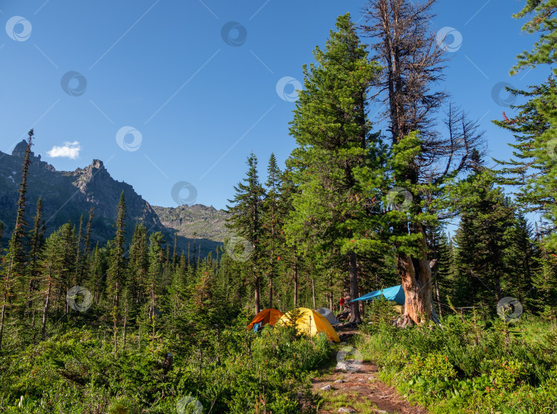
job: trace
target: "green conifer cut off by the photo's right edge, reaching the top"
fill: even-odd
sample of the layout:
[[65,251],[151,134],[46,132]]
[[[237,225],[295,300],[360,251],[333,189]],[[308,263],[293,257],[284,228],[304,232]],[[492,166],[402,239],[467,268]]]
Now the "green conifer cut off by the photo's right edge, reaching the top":
[[[527,19],[523,33],[539,37],[532,50],[518,54],[511,75],[557,62],[556,12],[553,0],[528,0],[514,14],[516,19]],[[516,201],[525,211],[535,211],[547,220],[540,229],[545,248],[557,251],[557,68],[550,71],[546,82],[527,90],[508,88],[512,94],[527,98],[527,102],[511,106],[518,110],[516,116],[507,117],[503,112],[503,119],[494,123],[509,130],[516,140],[509,144],[514,149],[513,158],[498,161],[503,166],[501,183],[518,186]]]

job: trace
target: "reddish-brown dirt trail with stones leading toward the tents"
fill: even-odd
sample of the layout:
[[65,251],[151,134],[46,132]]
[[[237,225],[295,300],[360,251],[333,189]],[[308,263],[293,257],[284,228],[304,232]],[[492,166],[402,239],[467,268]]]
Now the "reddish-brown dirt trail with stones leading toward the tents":
[[[334,369],[333,373],[312,380],[312,389],[325,397],[319,414],[329,413],[401,413],[427,414],[420,406],[404,400],[392,387],[387,387],[376,377],[377,366],[363,362],[356,371]],[[335,382],[342,380],[343,382]],[[330,385],[329,391],[322,387]],[[330,400],[338,402],[330,402]],[[340,403],[342,402],[342,405]],[[338,411],[340,407],[347,411]]]

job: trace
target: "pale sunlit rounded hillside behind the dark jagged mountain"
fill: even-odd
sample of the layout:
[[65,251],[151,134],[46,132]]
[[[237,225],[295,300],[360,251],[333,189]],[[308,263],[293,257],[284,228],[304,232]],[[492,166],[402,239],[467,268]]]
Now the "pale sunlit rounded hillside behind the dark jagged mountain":
[[179,207],[158,207],[153,210],[162,224],[168,229],[175,229],[178,235],[185,238],[206,238],[224,242],[228,229],[224,227],[226,212],[201,204]]

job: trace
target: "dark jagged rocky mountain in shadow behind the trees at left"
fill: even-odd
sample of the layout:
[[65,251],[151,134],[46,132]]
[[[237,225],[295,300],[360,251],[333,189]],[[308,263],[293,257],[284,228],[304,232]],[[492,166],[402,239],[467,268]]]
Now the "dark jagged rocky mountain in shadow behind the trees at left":
[[[5,235],[10,233],[15,223],[21,167],[26,146],[26,141],[21,141],[11,155],[0,151],[0,220],[4,222]],[[52,165],[42,161],[40,155],[35,156],[32,153],[28,184],[26,218],[32,223],[36,201],[41,196],[47,234],[68,221],[77,226],[82,214],[87,222],[89,209],[95,207],[92,238],[94,242],[99,241],[101,244],[106,242],[114,236],[113,225],[118,200],[123,191],[127,207],[127,239],[131,240],[135,222],[142,222],[150,232],[165,233],[171,249],[173,248],[173,228],[164,227],[155,209],[137,194],[131,185],[113,179],[105,165],[98,159],[91,165],[75,171],[56,171]],[[206,223],[201,216],[199,215],[202,221],[200,227],[203,228],[206,227]],[[186,234],[188,233],[179,234],[179,252],[187,253],[188,243],[192,241]],[[218,239],[212,238],[212,233],[207,229],[207,231],[198,231],[196,245],[201,245],[201,255],[205,255],[208,251],[215,250],[220,241],[220,232]]]

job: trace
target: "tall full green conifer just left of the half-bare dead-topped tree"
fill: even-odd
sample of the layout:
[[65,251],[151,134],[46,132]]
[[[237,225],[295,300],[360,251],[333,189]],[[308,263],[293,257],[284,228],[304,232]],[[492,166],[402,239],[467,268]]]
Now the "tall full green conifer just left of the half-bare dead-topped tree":
[[[335,257],[337,268],[348,268],[349,294],[356,299],[358,255],[370,240],[364,231],[367,195],[357,170],[370,168],[373,159],[376,135],[370,133],[367,100],[378,66],[369,62],[349,14],[338,17],[336,32],[314,57],[317,65],[303,67],[304,90],[290,128],[298,143],[291,165],[300,192],[286,229],[291,244],[307,235],[301,243],[311,254]],[[360,321],[357,303],[351,303],[351,321]]]

